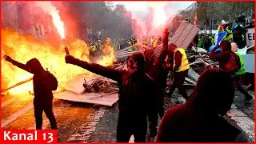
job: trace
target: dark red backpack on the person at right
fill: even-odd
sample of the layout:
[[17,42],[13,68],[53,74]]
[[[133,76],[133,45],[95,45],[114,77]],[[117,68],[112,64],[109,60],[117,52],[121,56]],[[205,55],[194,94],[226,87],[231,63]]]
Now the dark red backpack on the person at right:
[[239,57],[232,51],[230,54],[230,60],[225,65],[225,70],[230,74],[235,74],[236,72],[238,72],[238,70],[240,70],[240,68],[241,63]]

